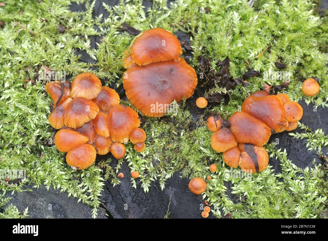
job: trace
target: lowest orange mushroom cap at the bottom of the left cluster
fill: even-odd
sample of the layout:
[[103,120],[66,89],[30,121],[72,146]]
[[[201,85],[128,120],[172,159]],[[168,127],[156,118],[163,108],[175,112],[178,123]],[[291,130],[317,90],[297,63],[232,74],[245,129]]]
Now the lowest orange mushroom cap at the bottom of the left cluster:
[[66,162],[71,167],[83,170],[94,163],[96,155],[96,149],[92,145],[82,144],[67,152]]

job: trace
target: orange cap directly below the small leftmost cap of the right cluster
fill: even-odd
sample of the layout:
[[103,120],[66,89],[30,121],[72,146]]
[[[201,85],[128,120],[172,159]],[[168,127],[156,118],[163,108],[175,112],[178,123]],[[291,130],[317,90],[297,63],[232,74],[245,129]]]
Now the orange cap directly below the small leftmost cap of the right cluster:
[[211,147],[217,152],[224,152],[230,148],[236,147],[237,142],[235,136],[228,128],[221,128],[213,132],[211,136]]

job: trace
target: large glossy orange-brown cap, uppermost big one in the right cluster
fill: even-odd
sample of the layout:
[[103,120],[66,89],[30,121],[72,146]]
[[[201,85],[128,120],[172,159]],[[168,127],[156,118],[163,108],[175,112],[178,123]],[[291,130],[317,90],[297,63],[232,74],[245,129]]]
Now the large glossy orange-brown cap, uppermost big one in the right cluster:
[[248,96],[241,105],[241,110],[276,132],[282,132],[288,126],[284,104],[277,95]]

